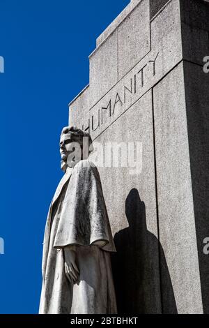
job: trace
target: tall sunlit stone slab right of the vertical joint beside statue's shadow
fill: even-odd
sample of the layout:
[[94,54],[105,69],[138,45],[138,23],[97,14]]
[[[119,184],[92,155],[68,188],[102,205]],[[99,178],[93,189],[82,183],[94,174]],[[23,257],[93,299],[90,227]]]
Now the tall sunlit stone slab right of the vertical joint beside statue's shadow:
[[[182,63],[153,95],[160,243],[178,313],[202,313]],[[163,283],[164,306],[169,306]]]

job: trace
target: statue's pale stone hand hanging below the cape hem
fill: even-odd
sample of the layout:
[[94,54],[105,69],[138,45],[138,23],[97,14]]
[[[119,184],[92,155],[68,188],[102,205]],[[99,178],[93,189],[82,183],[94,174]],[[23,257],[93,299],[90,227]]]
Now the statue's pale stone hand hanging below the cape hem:
[[76,264],[75,248],[65,247],[65,274],[70,283],[77,283],[79,280],[79,269]]

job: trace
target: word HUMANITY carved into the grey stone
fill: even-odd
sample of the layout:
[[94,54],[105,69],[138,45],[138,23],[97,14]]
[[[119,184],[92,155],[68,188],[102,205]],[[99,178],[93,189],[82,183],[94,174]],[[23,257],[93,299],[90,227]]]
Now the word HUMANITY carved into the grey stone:
[[151,87],[157,75],[159,53],[150,54],[148,60],[137,64],[88,112],[80,123],[84,131],[95,139]]

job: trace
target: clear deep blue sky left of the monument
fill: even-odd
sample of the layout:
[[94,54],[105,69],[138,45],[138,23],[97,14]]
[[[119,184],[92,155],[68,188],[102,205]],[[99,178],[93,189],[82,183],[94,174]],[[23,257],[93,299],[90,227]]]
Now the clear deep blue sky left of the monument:
[[42,239],[68,103],[95,39],[129,0],[0,0],[0,313],[38,313]]

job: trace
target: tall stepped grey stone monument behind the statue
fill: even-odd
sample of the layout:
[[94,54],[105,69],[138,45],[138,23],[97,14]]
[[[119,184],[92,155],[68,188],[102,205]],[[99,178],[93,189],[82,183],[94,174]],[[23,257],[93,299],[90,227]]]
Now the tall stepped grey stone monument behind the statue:
[[132,0],[70,103],[94,142],[142,145],[140,174],[99,167],[119,313],[209,313],[208,33],[207,1]]

